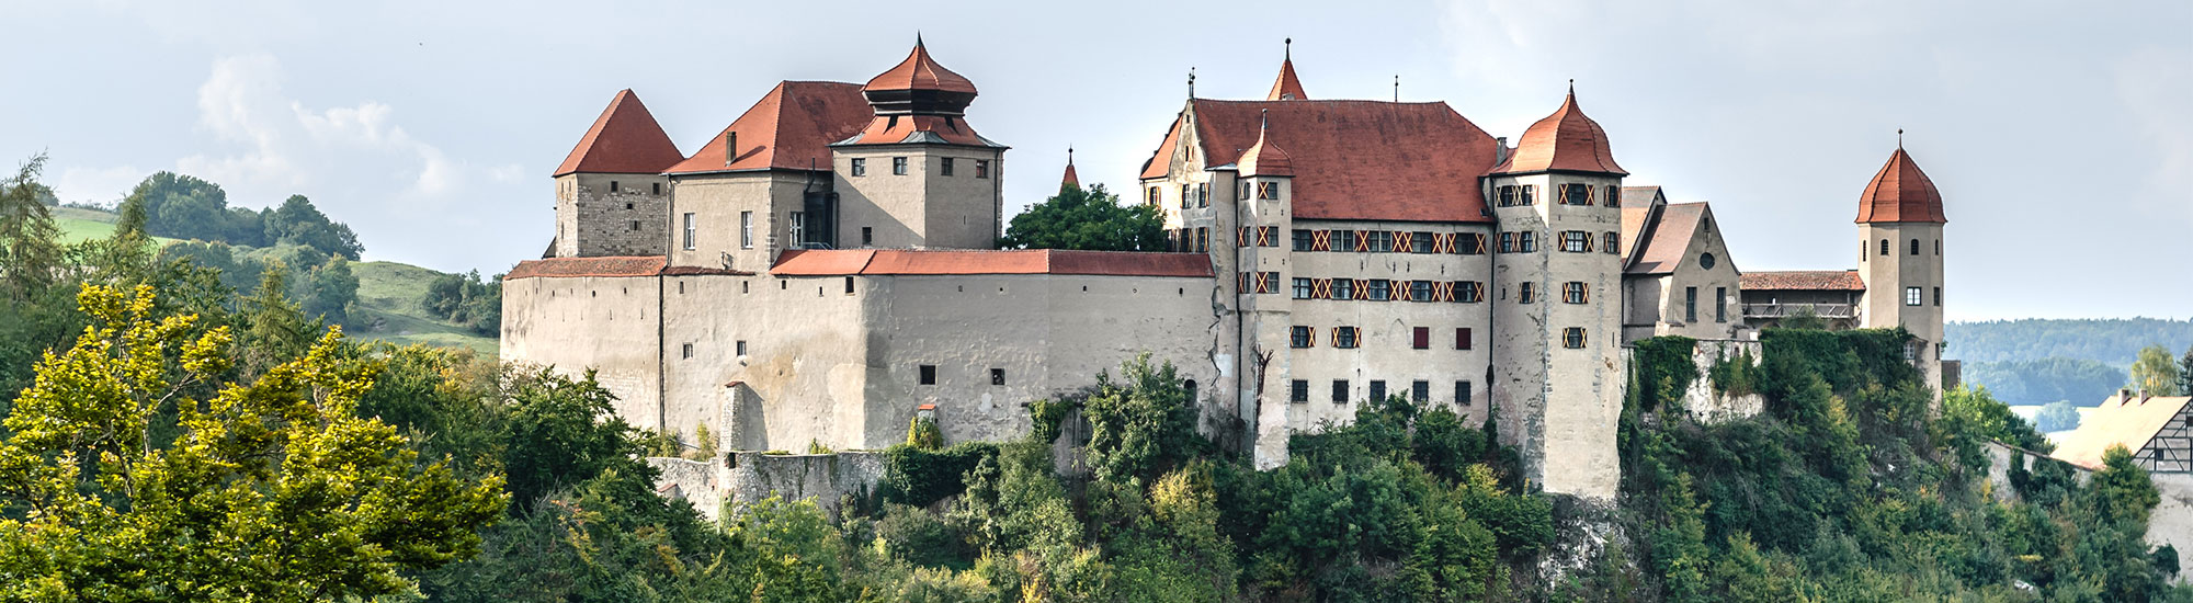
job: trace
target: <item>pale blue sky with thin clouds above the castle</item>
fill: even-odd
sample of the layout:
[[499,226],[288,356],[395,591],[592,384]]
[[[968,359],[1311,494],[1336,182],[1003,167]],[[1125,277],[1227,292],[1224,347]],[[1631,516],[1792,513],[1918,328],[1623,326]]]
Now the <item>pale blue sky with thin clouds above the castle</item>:
[[[601,4],[601,7],[596,7]],[[1947,316],[2193,316],[2193,2],[20,2],[0,164],[68,202],[154,171],[307,195],[366,259],[509,270],[550,171],[632,88],[686,153],[783,79],[866,81],[917,33],[1011,145],[1007,208],[1132,189],[1195,94],[1445,101],[1518,138],[1575,79],[1629,169],[1713,202],[1739,270],[1855,268],[1897,147],[1945,197]]]

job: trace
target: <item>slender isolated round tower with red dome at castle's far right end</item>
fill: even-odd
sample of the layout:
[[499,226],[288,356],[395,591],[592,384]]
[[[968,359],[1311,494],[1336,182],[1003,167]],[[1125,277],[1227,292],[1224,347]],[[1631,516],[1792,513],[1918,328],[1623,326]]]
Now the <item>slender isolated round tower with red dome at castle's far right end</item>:
[[[1901,136],[1901,132],[1897,132]],[[1857,197],[1857,274],[1866,278],[1866,329],[1904,327],[1917,338],[1906,357],[1941,395],[1941,230],[1950,219],[1941,211],[1941,191],[1904,151],[1888,153],[1888,164],[1873,175]]]

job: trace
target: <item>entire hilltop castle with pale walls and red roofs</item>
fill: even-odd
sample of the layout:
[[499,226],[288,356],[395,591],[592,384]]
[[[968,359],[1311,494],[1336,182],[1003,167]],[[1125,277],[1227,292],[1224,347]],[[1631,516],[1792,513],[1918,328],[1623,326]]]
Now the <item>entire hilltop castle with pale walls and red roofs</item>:
[[1616,489],[1625,342],[1805,307],[1904,325],[1939,375],[1941,195],[1904,149],[1860,270],[1741,274],[1711,206],[1623,186],[1575,90],[1507,145],[1439,101],[1311,99],[1289,57],[1261,101],[1191,79],[1134,193],[1167,252],[993,250],[1007,147],[976,94],[917,42],[866,86],[783,81],[689,156],[618,92],[555,171],[548,252],[502,281],[502,357],[596,371],[640,428],[851,450],[917,414],[1020,436],[1024,403],[1149,353],[1257,467],[1404,395],[1498,412],[1531,482],[1586,498]]

